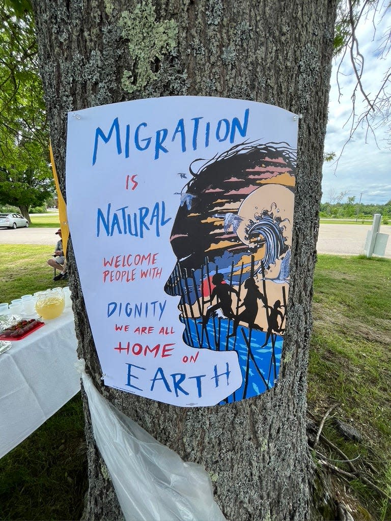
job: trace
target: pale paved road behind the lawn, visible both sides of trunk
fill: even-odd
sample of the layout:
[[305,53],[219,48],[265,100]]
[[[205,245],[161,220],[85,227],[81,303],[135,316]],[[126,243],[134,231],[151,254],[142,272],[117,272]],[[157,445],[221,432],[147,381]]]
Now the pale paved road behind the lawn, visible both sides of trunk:
[[[370,225],[321,224],[318,253],[336,255],[361,255],[364,253],[366,232]],[[391,226],[383,225],[382,233],[391,235]],[[53,248],[57,242],[56,228],[0,229],[0,244],[48,244]],[[391,239],[388,239],[386,257],[391,258]]]

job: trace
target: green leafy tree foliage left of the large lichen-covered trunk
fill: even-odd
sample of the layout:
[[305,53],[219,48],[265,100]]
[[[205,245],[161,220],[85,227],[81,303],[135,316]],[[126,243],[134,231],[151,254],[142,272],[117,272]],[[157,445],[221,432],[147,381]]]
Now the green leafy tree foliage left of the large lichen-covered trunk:
[[29,207],[53,193],[48,126],[29,3],[0,4],[0,203]]

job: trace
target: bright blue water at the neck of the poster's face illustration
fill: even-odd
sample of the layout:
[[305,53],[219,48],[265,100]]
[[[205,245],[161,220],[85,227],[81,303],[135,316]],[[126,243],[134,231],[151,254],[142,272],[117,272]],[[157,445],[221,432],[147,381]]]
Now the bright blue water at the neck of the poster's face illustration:
[[180,316],[180,321],[185,325],[184,341],[188,345],[238,353],[242,384],[220,402],[221,405],[258,396],[274,387],[283,349],[282,336],[271,334],[268,344],[261,348],[266,340],[266,332],[259,329],[239,326],[236,337],[227,338],[228,330],[230,333],[233,328],[232,320],[214,316],[205,326],[202,325],[201,318]]

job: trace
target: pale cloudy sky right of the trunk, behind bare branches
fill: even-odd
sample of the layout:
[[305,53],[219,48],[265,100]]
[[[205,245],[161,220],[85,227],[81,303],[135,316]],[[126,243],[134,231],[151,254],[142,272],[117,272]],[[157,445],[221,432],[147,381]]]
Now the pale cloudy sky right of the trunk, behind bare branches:
[[[360,52],[364,56],[362,82],[366,92],[372,95],[379,90],[385,71],[391,67],[391,52],[381,57],[378,50],[381,42],[384,41],[387,29],[390,30],[390,26],[391,10],[388,10],[383,19],[380,17],[375,19],[375,34],[372,18],[360,23],[357,29]],[[333,61],[324,148],[325,152],[335,152],[336,159],[349,139],[351,120],[348,121],[348,119],[352,111],[351,95],[356,84],[350,57],[347,56],[340,67],[341,95],[339,95],[336,79],[339,61],[340,57]],[[388,91],[391,92],[390,81],[388,81]],[[369,97],[371,98],[371,96]],[[361,93],[357,94],[356,105],[358,109],[364,106]],[[391,145],[387,146],[385,141],[389,138],[389,132],[387,132],[387,127],[375,131],[377,145],[370,132],[368,135],[365,134],[365,128],[357,129],[350,142],[346,144],[338,165],[335,162],[324,164],[323,203],[330,201],[333,192],[336,194],[348,192],[344,201],[349,196],[355,196],[357,202],[360,200],[362,192],[361,202],[363,204],[384,204],[391,200]]]

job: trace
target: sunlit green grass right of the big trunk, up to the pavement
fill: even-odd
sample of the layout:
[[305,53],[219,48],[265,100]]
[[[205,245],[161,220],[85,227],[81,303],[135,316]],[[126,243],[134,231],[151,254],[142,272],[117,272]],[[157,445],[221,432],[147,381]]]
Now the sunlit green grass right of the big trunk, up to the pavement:
[[[333,419],[326,421],[324,434],[391,495],[391,261],[320,255],[313,310],[309,410],[320,419],[329,405],[338,404],[335,416],[356,427],[363,440],[345,440]],[[341,468],[349,472],[347,465]],[[347,486],[339,481],[341,489]],[[357,504],[355,521],[391,519],[390,505],[361,480],[349,481],[347,490],[347,504],[355,502],[350,499],[355,494],[364,505]]]

